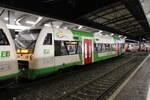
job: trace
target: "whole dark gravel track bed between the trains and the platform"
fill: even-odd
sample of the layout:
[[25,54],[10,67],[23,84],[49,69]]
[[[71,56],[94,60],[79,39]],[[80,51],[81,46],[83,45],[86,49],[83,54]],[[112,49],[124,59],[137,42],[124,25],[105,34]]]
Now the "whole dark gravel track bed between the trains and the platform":
[[[67,87],[68,90],[64,90],[63,88],[58,89],[60,88],[58,87],[59,85],[52,85],[53,88],[51,88],[51,82],[60,82],[58,80],[64,80],[68,76],[74,77],[73,75],[81,73],[84,73],[84,76],[86,77],[86,75],[89,74],[87,72],[89,70],[91,72],[93,67],[90,67],[91,65],[89,65],[85,66],[85,68],[75,68],[77,70],[70,69],[68,71],[57,73],[56,75],[44,79],[42,78],[40,80],[11,83],[7,85],[7,87],[0,89],[0,96],[3,98],[3,100],[13,100],[12,98],[15,98],[16,100],[36,100],[36,98],[39,98],[38,100],[106,100],[112,94],[112,92],[126,79],[126,77],[128,77],[128,75],[138,66],[138,64],[140,64],[146,55],[147,54],[143,55],[136,53],[116,59],[109,59],[100,63],[94,63],[92,66],[97,66],[97,69],[101,69],[101,71],[98,71],[100,74],[97,73],[97,76],[94,75],[95,78],[93,77],[92,79],[86,79],[86,81],[82,82],[82,84],[73,84],[73,86],[69,86],[69,88]],[[107,62],[111,62],[111,65]],[[106,69],[103,69],[101,65],[106,66]],[[78,77],[82,76],[78,75]],[[65,85],[70,83],[70,80],[72,79],[65,80],[64,82],[68,81],[65,83]],[[74,81],[72,82],[74,83]],[[46,90],[47,92],[44,95],[44,98],[41,97],[41,94],[39,95],[39,93],[43,91],[45,87],[43,87],[43,83],[45,83],[47,88],[50,88],[48,91]],[[63,82],[56,84],[61,83]],[[63,86],[63,84],[60,86]],[[59,95],[55,94],[55,89],[59,90]],[[36,92],[33,95],[30,94],[31,92],[29,92],[29,90]],[[29,95],[30,99],[29,96],[26,97],[25,95]]]

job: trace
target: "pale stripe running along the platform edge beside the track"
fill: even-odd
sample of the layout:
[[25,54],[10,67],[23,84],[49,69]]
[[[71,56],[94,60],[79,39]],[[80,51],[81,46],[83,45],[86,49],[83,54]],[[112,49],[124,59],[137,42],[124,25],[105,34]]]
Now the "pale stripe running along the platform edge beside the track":
[[[108,98],[108,100],[113,100],[119,93],[120,91],[125,87],[125,85],[131,80],[131,78],[136,74],[136,72],[142,67],[142,65],[148,60],[150,55],[148,55],[142,63],[136,68],[136,70],[124,81],[124,83]],[[150,91],[149,91],[150,92]],[[150,96],[150,93],[149,93]],[[149,100],[149,99],[147,99]]]

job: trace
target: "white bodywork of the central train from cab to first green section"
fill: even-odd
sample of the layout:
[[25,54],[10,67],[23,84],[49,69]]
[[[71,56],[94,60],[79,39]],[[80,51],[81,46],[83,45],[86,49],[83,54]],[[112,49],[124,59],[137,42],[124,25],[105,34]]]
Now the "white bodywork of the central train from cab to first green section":
[[[54,31],[54,32],[53,32]],[[43,45],[44,39],[47,33],[52,34],[52,45]],[[73,34],[69,30],[54,29],[45,27],[39,34],[33,60],[30,63],[31,69],[47,68],[58,66],[62,64],[68,64],[79,61],[79,55],[66,55],[66,56],[55,56],[54,57],[54,40],[73,41]],[[44,50],[47,50],[49,54],[44,54]]]

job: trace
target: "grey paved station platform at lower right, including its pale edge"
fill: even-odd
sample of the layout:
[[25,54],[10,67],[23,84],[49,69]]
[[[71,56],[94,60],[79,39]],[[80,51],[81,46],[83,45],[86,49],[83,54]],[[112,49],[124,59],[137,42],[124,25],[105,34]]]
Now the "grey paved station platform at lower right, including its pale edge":
[[150,55],[108,100],[150,100]]

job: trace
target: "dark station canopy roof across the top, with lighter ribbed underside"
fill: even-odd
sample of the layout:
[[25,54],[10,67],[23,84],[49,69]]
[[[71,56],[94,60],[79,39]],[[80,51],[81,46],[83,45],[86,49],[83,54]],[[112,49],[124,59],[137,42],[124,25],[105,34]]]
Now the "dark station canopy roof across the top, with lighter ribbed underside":
[[2,0],[0,6],[125,35],[150,39],[138,0]]

